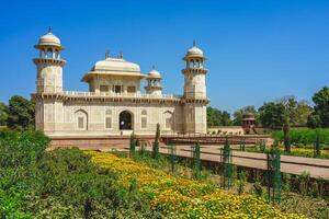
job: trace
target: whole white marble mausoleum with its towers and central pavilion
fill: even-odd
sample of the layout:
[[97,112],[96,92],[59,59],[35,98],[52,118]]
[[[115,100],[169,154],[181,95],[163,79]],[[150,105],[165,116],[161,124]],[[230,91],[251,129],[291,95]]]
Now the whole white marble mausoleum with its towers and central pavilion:
[[[60,39],[49,31],[34,47],[39,51],[33,59],[35,123],[48,136],[154,135],[158,123],[161,132],[206,132],[206,58],[195,44],[183,58],[182,95],[163,94],[162,78],[155,68],[144,74],[122,55],[109,54],[82,77],[89,91],[66,91]],[[146,80],[145,91],[141,80]]]

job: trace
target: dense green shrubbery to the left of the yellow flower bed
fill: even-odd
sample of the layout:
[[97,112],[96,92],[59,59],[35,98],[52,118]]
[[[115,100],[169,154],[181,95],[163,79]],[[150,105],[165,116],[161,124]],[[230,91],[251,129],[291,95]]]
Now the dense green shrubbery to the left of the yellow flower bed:
[[0,132],[0,218],[151,218],[134,189],[78,148],[46,152],[38,131]]

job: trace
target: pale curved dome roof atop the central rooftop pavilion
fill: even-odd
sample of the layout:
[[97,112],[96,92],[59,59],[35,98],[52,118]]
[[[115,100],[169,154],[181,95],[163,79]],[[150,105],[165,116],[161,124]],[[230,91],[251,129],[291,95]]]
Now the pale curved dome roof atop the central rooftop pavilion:
[[140,68],[137,64],[126,61],[122,58],[106,58],[95,62],[93,71],[122,71],[140,73]]

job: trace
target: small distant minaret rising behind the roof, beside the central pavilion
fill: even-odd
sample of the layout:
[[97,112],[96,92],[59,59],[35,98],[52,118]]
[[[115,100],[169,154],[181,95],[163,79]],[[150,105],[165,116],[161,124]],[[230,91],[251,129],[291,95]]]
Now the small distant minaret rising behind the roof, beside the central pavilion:
[[151,95],[161,95],[162,85],[161,85],[161,74],[158,70],[152,67],[152,70],[147,74],[147,85],[145,87],[146,93]]

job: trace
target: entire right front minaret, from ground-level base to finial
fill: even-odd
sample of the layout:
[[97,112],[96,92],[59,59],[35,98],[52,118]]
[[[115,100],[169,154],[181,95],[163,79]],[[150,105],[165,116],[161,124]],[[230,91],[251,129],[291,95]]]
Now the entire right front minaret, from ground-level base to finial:
[[207,69],[203,65],[205,59],[195,42],[183,58],[186,62],[186,67],[182,70],[184,74],[184,132],[206,134],[207,130],[206,106],[209,101],[206,96]]

